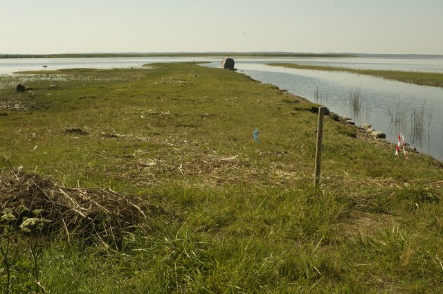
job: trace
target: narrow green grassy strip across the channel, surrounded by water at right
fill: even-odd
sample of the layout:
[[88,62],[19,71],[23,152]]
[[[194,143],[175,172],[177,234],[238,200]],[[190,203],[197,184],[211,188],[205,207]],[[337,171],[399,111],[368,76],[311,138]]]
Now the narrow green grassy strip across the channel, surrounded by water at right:
[[440,86],[443,87],[443,73],[424,73],[416,71],[380,71],[370,69],[354,69],[338,66],[311,66],[302,64],[273,63],[271,66],[284,66],[288,68],[311,69],[314,71],[342,71],[346,73],[356,73],[358,75],[372,75],[374,77],[382,77],[388,80],[397,80],[411,84],[419,84],[423,86]]

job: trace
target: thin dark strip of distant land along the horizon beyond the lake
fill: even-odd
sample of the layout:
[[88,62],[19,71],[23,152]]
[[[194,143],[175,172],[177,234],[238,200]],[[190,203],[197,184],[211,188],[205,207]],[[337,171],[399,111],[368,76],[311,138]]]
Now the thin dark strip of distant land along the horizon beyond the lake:
[[72,54],[0,54],[0,58],[87,58],[87,57],[356,57],[334,53],[72,53]]

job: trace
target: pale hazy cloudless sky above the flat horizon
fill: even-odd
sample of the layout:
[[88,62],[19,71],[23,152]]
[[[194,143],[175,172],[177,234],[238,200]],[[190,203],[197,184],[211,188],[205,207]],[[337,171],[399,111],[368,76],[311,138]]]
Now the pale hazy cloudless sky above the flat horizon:
[[0,0],[0,53],[443,54],[443,0]]

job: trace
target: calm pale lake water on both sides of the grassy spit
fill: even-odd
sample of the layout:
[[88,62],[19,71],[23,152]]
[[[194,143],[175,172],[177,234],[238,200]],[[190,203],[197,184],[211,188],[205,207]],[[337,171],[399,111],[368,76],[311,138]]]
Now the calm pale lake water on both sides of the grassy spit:
[[[204,66],[219,67],[221,57],[116,57],[0,59],[0,74],[15,71],[59,68],[141,67],[155,62],[206,61]],[[272,62],[293,62],[348,68],[428,71],[443,73],[442,57],[346,57],[235,58],[235,67],[265,83],[275,84],[290,93],[328,107],[340,116],[352,118],[356,125],[364,122],[383,131],[397,143],[404,134],[406,143],[418,151],[443,160],[443,89],[383,80],[367,75],[327,71],[309,71],[268,66]]]

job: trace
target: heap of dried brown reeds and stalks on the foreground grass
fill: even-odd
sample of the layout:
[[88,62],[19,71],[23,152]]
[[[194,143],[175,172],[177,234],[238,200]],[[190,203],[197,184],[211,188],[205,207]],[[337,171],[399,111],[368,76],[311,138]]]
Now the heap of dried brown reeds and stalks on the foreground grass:
[[17,170],[0,174],[0,224],[22,230],[26,219],[36,220],[41,226],[26,228],[28,233],[117,245],[122,232],[145,218],[146,208],[142,199],[110,189],[60,187],[47,177]]

